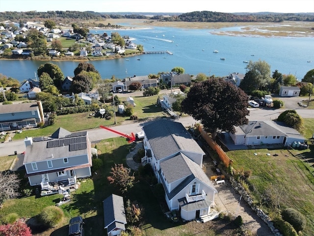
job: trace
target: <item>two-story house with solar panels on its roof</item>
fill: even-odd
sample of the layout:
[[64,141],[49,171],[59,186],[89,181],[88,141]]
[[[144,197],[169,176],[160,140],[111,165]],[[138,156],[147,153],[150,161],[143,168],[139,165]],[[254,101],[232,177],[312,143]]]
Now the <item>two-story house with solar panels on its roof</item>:
[[23,164],[31,186],[53,190],[53,185],[76,185],[77,178],[90,177],[91,143],[87,131],[71,133],[57,129],[51,137],[25,138]]

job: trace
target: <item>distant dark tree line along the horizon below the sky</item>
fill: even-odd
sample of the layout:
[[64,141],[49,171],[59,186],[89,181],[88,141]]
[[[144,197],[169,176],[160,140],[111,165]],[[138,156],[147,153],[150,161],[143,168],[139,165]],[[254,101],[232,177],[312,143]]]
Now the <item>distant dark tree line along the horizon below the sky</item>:
[[314,13],[223,13],[213,11],[194,11],[183,14],[163,16],[156,14],[153,17],[143,14],[106,14],[94,11],[5,11],[1,12],[0,21],[27,21],[55,19],[58,22],[72,22],[74,20],[106,20],[106,19],[147,19],[158,21],[183,22],[282,22],[282,21],[308,21],[314,22]]

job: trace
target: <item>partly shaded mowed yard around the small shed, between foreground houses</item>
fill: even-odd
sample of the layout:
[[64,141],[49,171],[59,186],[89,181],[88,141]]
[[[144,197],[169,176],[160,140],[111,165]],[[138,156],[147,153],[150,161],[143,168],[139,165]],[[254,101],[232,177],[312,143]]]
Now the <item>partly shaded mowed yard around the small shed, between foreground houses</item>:
[[[123,163],[126,166],[126,155],[133,145],[128,144],[124,138],[112,138],[98,143],[97,148],[101,152],[99,158],[103,160],[104,166],[96,172],[97,175],[93,171],[91,178],[80,180],[78,190],[71,194],[72,201],[60,206],[64,212],[64,219],[56,228],[32,227],[33,235],[67,235],[68,222],[70,218],[77,215],[84,218],[86,236],[105,235],[103,200],[112,193],[121,195],[106,177],[114,163]],[[21,177],[23,176],[24,173],[21,173]],[[29,188],[27,183],[24,186]],[[125,202],[128,199],[136,200],[143,207],[142,229],[146,236],[234,236],[237,232],[235,225],[226,221],[215,220],[204,224],[195,221],[171,222],[162,212],[160,202],[155,197],[152,187],[145,181],[139,181],[137,177],[133,188],[121,196],[124,197]],[[26,219],[36,217],[44,207],[55,205],[61,197],[58,194],[45,197],[33,195],[7,200],[0,213],[2,217],[12,212]]]

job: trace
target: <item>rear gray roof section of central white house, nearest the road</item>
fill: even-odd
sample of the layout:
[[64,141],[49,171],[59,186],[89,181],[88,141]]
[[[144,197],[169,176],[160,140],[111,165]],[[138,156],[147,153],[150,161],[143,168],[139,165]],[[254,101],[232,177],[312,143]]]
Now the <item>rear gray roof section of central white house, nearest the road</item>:
[[143,127],[156,160],[177,154],[181,150],[203,153],[203,149],[186,131],[182,123],[159,119]]

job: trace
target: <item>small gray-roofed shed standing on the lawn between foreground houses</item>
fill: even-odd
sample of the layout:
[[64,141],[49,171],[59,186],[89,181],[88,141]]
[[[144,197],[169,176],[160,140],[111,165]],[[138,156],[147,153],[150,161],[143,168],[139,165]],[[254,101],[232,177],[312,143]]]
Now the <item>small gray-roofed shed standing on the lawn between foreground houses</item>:
[[[105,228],[108,228],[108,232],[110,232],[113,226],[117,226],[118,223],[120,224],[127,224],[125,208],[123,203],[123,197],[111,194],[104,200],[104,221],[105,221]],[[115,224],[112,224],[116,222]],[[122,225],[119,226],[121,227]],[[110,230],[109,230],[110,226]],[[119,227],[119,228],[120,228]],[[120,228],[123,229],[123,228]],[[125,228],[124,228],[125,229]]]

